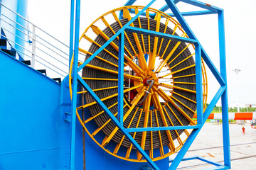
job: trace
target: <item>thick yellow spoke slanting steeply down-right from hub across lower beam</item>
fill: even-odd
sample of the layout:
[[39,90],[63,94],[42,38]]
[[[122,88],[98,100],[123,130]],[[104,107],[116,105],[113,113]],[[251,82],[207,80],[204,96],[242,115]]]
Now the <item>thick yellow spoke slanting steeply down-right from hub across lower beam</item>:
[[[154,86],[153,86],[154,88]],[[164,123],[164,126],[168,127],[169,125],[167,124],[166,122],[166,118],[164,116],[164,111],[163,111],[163,108],[161,108],[161,103],[159,101],[159,96],[158,94],[156,93],[156,91],[154,91],[153,93],[153,103],[154,103],[154,106],[156,107],[156,110],[159,111],[160,115],[161,115],[161,120],[163,121]],[[169,147],[169,149],[171,150],[171,152],[174,152],[175,151],[175,145],[174,145],[174,140],[172,139],[171,137],[171,132],[170,130],[166,130],[166,134],[167,134],[167,137],[169,139],[169,144],[167,145]]]

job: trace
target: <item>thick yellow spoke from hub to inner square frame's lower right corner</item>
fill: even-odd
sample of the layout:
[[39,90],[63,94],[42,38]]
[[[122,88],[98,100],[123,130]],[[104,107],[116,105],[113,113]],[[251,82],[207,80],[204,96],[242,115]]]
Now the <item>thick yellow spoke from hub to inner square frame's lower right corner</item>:
[[156,91],[157,94],[164,99],[164,101],[169,101],[171,105],[173,105],[191,123],[191,125],[196,125],[192,118],[189,117],[166,93],[164,93],[162,89],[156,89],[156,87],[153,86],[153,90]]

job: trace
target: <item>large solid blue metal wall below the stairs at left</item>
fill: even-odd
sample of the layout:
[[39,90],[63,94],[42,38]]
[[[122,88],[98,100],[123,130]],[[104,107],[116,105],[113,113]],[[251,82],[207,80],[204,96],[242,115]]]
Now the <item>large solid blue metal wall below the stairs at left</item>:
[[0,169],[68,169],[60,84],[0,52]]

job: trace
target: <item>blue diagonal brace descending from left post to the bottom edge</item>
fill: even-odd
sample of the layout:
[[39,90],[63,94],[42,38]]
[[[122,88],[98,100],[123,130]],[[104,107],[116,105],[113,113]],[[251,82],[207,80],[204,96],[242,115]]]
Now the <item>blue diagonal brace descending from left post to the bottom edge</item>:
[[134,140],[134,138],[129,134],[129,132],[127,132],[127,130],[125,130],[125,128],[121,125],[121,123],[119,123],[117,118],[114,117],[113,113],[111,113],[111,111],[107,108],[107,106],[105,106],[105,104],[100,100],[100,98],[95,94],[95,92],[92,91],[92,89],[90,89],[90,86],[88,86],[85,83],[85,81],[82,79],[82,77],[80,77],[79,75],[78,75],[78,80],[80,81],[82,86],[86,89],[87,93],[90,94],[90,96],[92,96],[92,98],[97,102],[97,104],[102,108],[102,110],[105,111],[105,113],[107,113],[107,116],[112,120],[114,125],[116,125],[117,128],[119,128],[119,130],[121,130],[121,132],[127,137],[127,139],[130,142],[132,142],[132,145],[134,145],[134,147],[136,147],[136,149],[139,151],[139,153],[142,154],[144,159],[146,159],[146,161],[149,162],[149,164],[152,166],[152,168],[154,168],[156,170],[160,170],[159,167],[156,166],[156,164],[149,157],[149,155],[146,154],[146,152],[142,149],[142,147],[139,146],[139,144],[136,142],[136,140]]

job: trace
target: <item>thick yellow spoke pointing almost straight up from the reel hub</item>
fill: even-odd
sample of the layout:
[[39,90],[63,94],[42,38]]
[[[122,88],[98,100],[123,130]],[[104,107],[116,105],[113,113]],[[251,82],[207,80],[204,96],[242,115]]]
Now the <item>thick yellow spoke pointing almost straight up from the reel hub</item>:
[[[156,32],[159,32],[160,28],[160,21],[161,21],[161,13],[156,13],[156,16],[154,18],[156,20]],[[155,67],[156,63],[156,50],[157,50],[157,45],[158,45],[158,37],[154,38],[154,47],[153,47],[153,52],[151,53],[151,56],[149,57],[149,70],[153,70]]]

